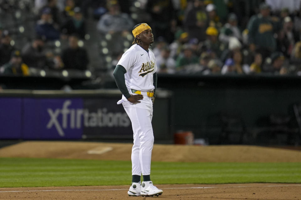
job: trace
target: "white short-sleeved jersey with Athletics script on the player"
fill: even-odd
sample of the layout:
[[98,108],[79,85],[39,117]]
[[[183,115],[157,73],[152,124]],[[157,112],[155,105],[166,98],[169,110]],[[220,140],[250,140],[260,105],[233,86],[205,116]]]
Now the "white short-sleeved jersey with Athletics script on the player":
[[124,79],[128,89],[146,92],[155,88],[153,74],[157,71],[157,65],[152,51],[147,52],[134,44],[122,55],[117,65],[126,69]]

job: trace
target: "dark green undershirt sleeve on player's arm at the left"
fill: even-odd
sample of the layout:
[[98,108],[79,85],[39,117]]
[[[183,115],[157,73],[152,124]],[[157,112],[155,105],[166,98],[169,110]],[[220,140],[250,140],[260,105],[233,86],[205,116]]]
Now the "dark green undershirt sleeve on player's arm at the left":
[[130,98],[131,95],[129,94],[128,88],[125,85],[124,74],[126,73],[125,68],[122,65],[117,65],[114,69],[113,75],[115,78],[115,83],[119,88],[120,92],[124,95],[125,98]]

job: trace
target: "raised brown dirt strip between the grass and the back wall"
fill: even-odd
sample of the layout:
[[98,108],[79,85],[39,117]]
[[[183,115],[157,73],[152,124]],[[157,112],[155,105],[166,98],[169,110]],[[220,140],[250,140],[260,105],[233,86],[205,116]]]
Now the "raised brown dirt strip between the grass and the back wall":
[[[0,148],[0,157],[130,160],[131,149],[131,143],[28,141]],[[243,145],[155,144],[152,161],[301,162],[301,151]]]

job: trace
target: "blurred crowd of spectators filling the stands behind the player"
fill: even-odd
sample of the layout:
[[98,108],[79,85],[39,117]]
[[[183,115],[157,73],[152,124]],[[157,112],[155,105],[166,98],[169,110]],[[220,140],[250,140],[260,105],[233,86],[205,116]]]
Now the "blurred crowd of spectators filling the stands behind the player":
[[146,22],[158,73],[301,75],[301,0],[0,0],[9,15],[0,18],[0,74],[111,74]]

